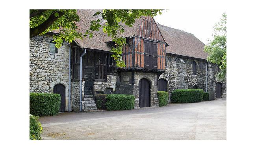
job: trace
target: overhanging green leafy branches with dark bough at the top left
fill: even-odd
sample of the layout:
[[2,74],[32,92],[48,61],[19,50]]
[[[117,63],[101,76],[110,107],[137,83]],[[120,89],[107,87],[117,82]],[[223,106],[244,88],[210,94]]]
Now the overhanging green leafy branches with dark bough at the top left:
[[140,16],[156,16],[161,14],[160,9],[126,9],[126,10],[113,10],[104,9],[103,11],[96,12],[93,16],[101,16],[101,19],[91,21],[91,25],[85,33],[78,33],[76,29],[76,22],[80,21],[76,10],[30,10],[30,38],[37,35],[44,35],[48,31],[58,30],[59,34],[54,35],[54,42],[56,47],[61,47],[63,40],[72,42],[75,38],[83,38],[94,36],[94,31],[99,31],[102,27],[104,33],[113,38],[115,47],[111,47],[114,53],[111,55],[116,60],[118,67],[125,67],[121,59],[122,46],[126,44],[126,39],[119,36],[119,33],[124,32],[125,25],[131,27],[136,18]]

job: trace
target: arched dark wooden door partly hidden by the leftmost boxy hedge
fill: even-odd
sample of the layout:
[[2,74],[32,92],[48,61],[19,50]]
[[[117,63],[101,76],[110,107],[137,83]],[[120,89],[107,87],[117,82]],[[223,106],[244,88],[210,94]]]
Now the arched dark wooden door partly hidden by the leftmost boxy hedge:
[[53,93],[60,94],[60,112],[65,111],[66,101],[65,101],[65,86],[63,84],[56,84],[53,88]]

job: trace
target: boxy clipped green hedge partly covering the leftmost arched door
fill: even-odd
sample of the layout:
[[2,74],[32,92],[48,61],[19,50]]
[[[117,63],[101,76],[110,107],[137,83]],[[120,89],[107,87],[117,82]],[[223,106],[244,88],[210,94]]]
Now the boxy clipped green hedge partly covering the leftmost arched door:
[[30,93],[30,114],[36,116],[57,115],[60,108],[60,94]]

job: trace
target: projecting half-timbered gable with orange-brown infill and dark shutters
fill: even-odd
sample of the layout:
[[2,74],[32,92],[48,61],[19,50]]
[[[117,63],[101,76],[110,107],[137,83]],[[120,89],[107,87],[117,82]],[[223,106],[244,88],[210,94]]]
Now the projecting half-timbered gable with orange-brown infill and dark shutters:
[[161,35],[158,25],[151,16],[143,16],[134,34],[127,39],[123,47],[124,69],[144,69],[147,71],[165,71],[165,47],[168,44]]

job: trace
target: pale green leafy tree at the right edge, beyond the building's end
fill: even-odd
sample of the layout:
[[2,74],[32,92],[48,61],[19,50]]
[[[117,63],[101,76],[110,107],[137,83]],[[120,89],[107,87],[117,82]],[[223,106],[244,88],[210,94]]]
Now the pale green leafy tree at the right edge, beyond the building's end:
[[223,13],[221,21],[214,26],[214,39],[204,47],[209,56],[207,61],[219,65],[217,74],[220,80],[226,77],[226,13]]

